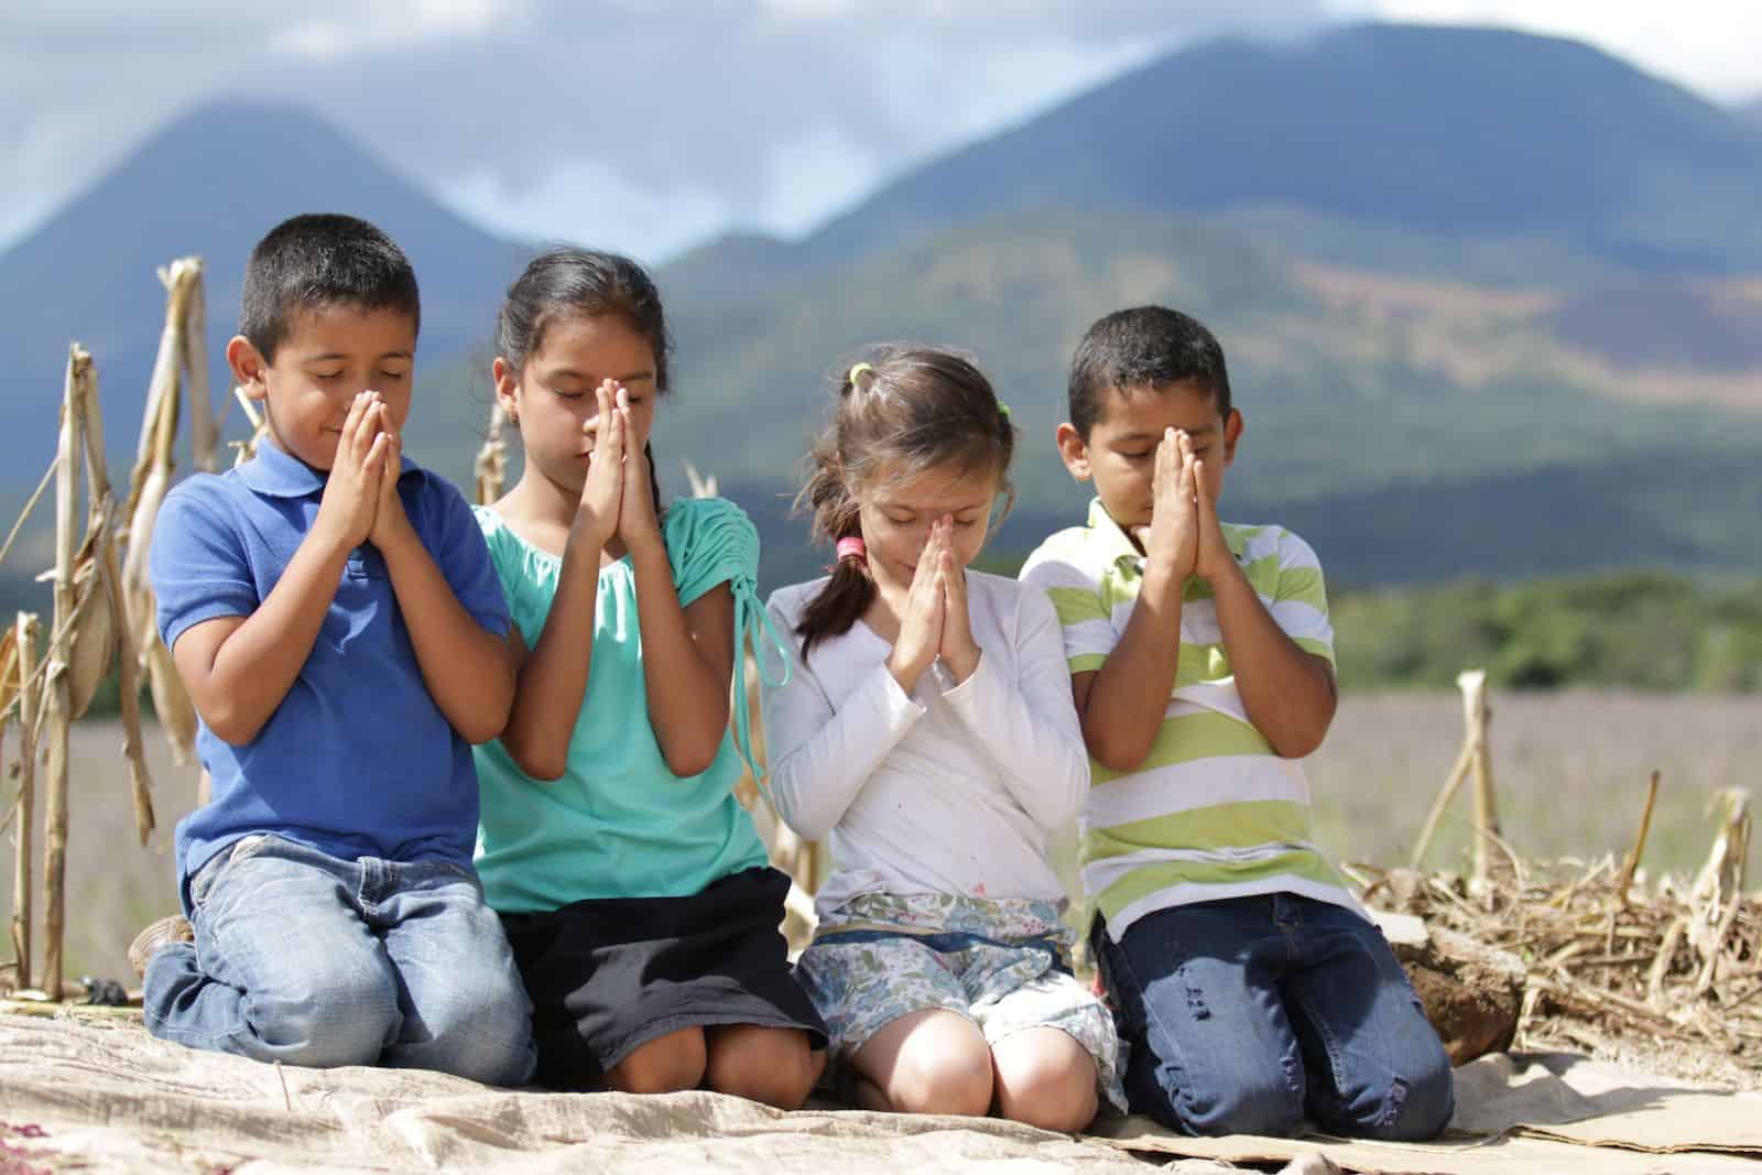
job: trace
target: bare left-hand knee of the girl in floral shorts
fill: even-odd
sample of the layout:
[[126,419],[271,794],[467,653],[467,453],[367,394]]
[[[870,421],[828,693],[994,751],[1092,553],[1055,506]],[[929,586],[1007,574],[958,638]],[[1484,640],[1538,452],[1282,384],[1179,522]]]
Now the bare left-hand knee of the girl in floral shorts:
[[990,1048],[955,1013],[900,1016],[863,1043],[853,1062],[897,1113],[990,1113]]

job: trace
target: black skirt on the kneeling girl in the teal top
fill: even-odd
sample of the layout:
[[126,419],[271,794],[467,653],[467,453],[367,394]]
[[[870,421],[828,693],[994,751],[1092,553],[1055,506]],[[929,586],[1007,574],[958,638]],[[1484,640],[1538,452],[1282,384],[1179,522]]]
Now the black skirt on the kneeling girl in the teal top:
[[747,868],[678,898],[592,898],[544,914],[502,914],[532,997],[537,1080],[604,1089],[606,1071],[668,1032],[752,1024],[826,1025],[795,981],[777,925],[789,879]]

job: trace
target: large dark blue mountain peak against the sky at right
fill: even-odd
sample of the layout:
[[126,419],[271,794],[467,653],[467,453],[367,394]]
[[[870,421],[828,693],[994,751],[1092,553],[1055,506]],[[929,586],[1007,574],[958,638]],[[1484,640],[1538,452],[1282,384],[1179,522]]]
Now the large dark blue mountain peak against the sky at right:
[[1290,206],[1621,264],[1762,268],[1762,136],[1589,46],[1357,25],[1182,49],[886,185],[814,257],[1029,204]]

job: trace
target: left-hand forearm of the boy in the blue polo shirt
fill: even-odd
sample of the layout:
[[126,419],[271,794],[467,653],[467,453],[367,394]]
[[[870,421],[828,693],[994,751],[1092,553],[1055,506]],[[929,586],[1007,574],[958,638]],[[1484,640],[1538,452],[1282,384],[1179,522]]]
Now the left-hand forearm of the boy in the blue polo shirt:
[[190,645],[190,638],[201,639],[203,625],[178,638],[178,673],[217,738],[234,747],[248,743],[287,698],[337,599],[347,560],[347,546],[314,530],[257,610],[217,647]]

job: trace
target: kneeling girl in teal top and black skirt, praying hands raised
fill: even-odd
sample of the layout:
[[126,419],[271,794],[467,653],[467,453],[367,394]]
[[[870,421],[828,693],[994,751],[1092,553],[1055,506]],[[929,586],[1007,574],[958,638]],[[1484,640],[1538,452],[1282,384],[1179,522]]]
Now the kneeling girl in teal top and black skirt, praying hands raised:
[[788,877],[733,796],[738,650],[766,638],[758,534],[721,499],[661,511],[668,336],[641,266],[536,257],[495,342],[525,469],[478,520],[518,685],[476,750],[478,872],[532,997],[539,1080],[796,1108],[825,1025],[777,932]]

